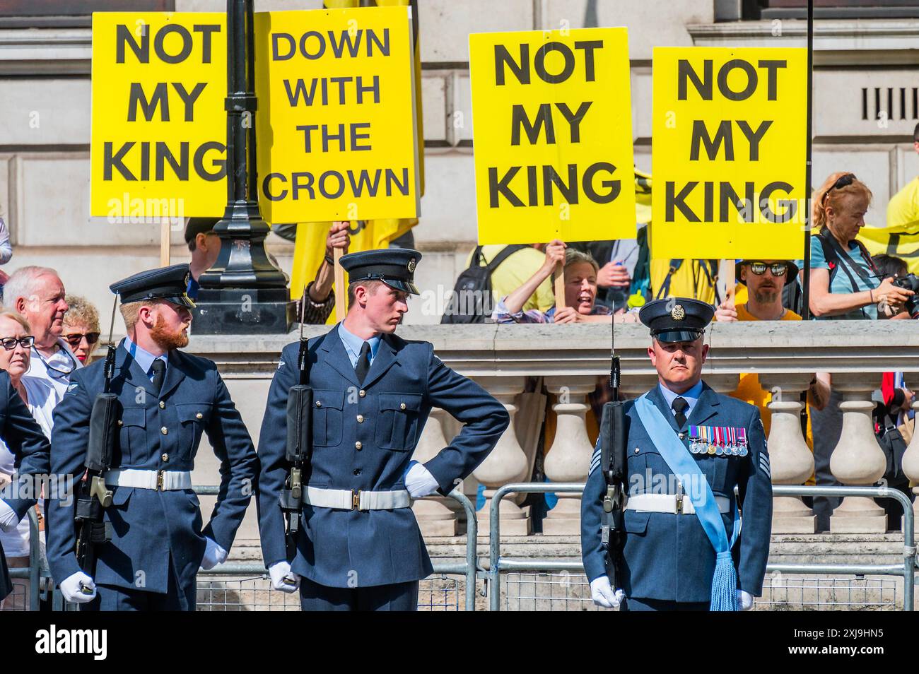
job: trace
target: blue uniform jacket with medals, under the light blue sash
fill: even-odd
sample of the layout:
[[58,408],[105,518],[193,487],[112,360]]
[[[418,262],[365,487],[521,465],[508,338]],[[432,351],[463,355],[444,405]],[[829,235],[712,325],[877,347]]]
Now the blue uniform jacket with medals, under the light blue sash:
[[[746,456],[693,456],[716,497],[727,497],[733,503],[734,488],[738,488],[737,503],[743,517],[739,542],[733,548],[738,587],[759,596],[763,591],[772,530],[772,481],[759,410],[741,400],[722,396],[705,385],[686,425],[677,428],[674,414],[664,402],[660,389],[654,387],[648,398],[664,413],[674,432],[686,432],[689,425],[746,429]],[[675,493],[672,487],[660,489],[662,483],[667,485],[672,481],[666,477],[673,473],[645,432],[634,400],[625,403],[625,410],[630,494]],[[688,448],[688,433],[683,443]],[[595,452],[595,458],[596,455]],[[597,464],[596,460],[592,461],[581,503],[581,550],[584,571],[591,580],[606,573],[605,552],[600,545],[606,482]],[[626,537],[619,584],[627,597],[709,601],[715,550],[695,514],[625,511],[623,519]],[[722,520],[730,541],[731,513],[722,515]]]

